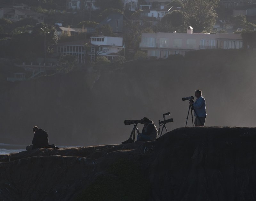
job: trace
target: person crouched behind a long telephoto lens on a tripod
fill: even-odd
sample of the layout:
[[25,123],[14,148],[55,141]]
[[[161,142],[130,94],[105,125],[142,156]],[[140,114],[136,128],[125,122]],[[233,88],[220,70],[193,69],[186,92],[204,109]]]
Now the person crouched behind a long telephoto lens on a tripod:
[[154,122],[147,117],[143,118],[144,127],[142,128],[142,133],[137,135],[137,141],[153,141],[157,137],[157,129]]

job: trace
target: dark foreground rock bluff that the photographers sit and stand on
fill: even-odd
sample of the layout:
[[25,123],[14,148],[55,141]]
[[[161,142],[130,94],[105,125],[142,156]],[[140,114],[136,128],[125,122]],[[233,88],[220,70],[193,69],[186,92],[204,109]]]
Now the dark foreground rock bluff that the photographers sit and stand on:
[[0,200],[255,200],[255,143],[256,128],[183,127],[151,142],[0,155]]

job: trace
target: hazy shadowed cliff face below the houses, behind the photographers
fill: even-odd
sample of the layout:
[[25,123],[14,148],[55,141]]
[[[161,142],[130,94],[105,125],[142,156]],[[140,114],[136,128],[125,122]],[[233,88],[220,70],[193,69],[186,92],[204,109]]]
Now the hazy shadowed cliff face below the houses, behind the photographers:
[[[166,125],[170,131],[185,126],[189,104],[181,98],[193,96],[195,89],[201,89],[206,99],[205,126],[254,126],[254,55],[205,52],[14,83],[0,93],[0,141],[31,144],[37,125],[57,146],[118,144],[132,131],[124,120],[146,116],[158,127],[166,112],[174,120]],[[188,126],[192,126],[190,114]]]

